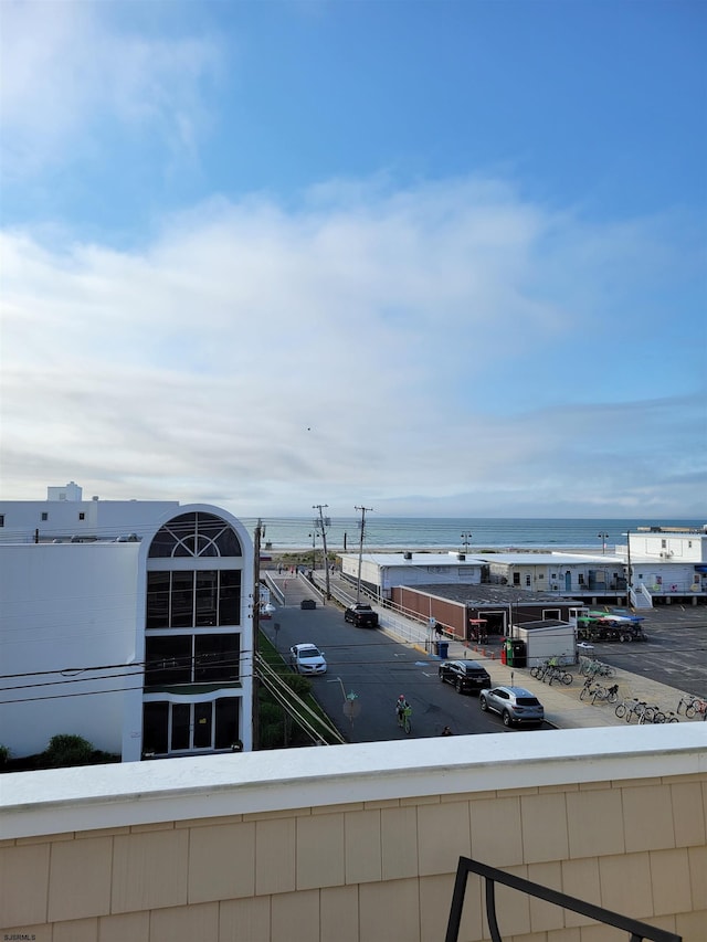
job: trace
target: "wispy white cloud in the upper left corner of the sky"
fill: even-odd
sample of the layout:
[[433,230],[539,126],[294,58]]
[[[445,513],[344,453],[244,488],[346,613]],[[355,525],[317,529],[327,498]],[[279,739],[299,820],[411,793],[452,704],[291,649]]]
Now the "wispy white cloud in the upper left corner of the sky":
[[114,126],[192,156],[202,83],[221,67],[210,38],[150,39],[108,22],[109,4],[4,0],[0,30],[3,172],[31,177],[107,147]]

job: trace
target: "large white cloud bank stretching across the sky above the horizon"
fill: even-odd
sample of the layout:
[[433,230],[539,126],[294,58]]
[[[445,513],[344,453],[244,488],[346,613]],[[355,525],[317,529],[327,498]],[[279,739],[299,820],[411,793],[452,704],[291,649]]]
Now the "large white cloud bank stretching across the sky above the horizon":
[[669,258],[654,227],[495,181],[345,189],[203,204],[141,253],[6,233],[4,497],[698,512],[699,356],[646,377],[605,339],[644,310],[595,288],[610,266],[623,305],[622,257]]

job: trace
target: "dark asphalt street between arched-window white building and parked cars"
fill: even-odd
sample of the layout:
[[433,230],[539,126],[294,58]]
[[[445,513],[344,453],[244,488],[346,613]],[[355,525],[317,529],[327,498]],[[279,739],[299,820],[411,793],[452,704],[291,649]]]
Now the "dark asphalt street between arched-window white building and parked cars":
[[312,678],[313,690],[349,742],[404,739],[395,718],[400,694],[412,707],[413,739],[440,735],[445,726],[455,734],[516,732],[507,730],[500,717],[482,713],[476,696],[460,695],[442,684],[436,658],[383,632],[347,624],[334,604],[315,611],[278,607],[261,627],[286,660],[291,645],[302,642],[324,652],[328,671]]

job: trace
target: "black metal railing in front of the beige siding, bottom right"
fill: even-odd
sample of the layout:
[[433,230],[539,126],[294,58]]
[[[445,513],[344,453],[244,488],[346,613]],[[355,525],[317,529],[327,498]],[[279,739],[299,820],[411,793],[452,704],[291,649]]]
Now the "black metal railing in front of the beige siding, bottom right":
[[534,883],[531,880],[526,880],[523,877],[514,877],[504,870],[497,870],[495,867],[481,864],[478,860],[472,860],[471,857],[460,857],[456,868],[456,880],[454,881],[452,907],[450,909],[450,920],[446,935],[444,936],[445,942],[457,942],[460,938],[466,878],[469,874],[477,874],[484,878],[486,919],[493,942],[503,942],[498,930],[498,920],[496,919],[496,883],[503,883],[503,886],[510,887],[510,889],[518,890],[518,892],[537,897],[562,909],[579,912],[581,915],[585,915],[604,925],[613,925],[615,929],[626,932],[630,942],[641,942],[643,939],[648,939],[651,942],[682,942],[683,940],[682,935],[675,935],[675,933],[666,932],[664,929],[656,929],[654,925],[639,922],[637,919],[630,919],[626,915],[621,915],[619,912],[612,912],[610,909],[603,909],[600,906],[577,899],[577,897],[569,897],[566,893],[551,890],[549,887],[544,887],[540,883]]

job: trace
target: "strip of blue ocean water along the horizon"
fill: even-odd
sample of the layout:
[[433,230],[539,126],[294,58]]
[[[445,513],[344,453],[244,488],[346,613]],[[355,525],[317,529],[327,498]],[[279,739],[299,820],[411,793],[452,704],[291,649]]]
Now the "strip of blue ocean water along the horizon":
[[[327,548],[356,552],[361,539],[361,519],[325,518]],[[251,534],[256,520],[244,519]],[[532,519],[466,517],[382,517],[366,515],[363,550],[483,550],[483,549],[587,549],[606,551],[626,543],[629,530],[639,527],[684,527],[698,529],[707,520],[643,519]],[[321,546],[319,521],[313,518],[262,518],[263,548],[287,551]],[[602,536],[603,534],[603,536]]]

